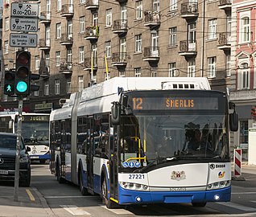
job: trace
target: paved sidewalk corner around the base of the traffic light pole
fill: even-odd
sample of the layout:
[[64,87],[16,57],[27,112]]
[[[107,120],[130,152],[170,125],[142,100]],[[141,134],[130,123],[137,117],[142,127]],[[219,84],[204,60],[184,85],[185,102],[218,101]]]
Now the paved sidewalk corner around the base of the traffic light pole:
[[14,186],[0,184],[0,217],[56,216],[38,190],[19,187],[18,202],[14,201]]

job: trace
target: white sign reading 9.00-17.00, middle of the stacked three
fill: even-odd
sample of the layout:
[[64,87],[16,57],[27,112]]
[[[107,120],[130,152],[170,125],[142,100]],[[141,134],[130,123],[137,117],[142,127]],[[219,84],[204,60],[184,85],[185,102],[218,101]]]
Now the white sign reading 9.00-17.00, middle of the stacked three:
[[10,18],[10,31],[38,31],[38,18]]

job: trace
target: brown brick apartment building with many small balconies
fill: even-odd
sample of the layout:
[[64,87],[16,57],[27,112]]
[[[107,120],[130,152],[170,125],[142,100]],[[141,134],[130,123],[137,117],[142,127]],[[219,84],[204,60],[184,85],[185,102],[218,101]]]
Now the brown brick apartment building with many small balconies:
[[[3,64],[15,68],[10,2],[3,8]],[[114,76],[204,76],[213,89],[230,84],[231,3],[176,0],[46,0],[39,4],[38,47],[31,72],[39,92],[24,108],[50,112],[70,93]],[[3,96],[2,109],[16,99]]]

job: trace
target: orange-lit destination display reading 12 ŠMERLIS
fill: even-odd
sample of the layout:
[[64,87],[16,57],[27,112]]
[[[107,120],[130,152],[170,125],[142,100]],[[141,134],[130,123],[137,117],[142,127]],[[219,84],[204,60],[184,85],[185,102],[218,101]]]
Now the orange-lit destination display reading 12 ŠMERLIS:
[[131,97],[133,110],[217,110],[217,97]]

